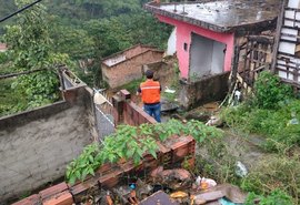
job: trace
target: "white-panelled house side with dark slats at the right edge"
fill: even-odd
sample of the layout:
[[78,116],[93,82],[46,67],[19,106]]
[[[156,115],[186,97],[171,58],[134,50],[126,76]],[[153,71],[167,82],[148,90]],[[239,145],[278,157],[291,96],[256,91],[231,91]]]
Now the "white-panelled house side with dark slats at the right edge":
[[300,89],[300,0],[284,0],[278,21],[273,71],[283,82]]

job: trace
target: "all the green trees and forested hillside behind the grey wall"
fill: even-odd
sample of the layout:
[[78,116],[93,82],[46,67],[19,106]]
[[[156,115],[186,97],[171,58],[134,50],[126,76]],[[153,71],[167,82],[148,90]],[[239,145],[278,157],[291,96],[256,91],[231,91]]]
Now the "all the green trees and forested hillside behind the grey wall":
[[[32,1],[0,0],[1,17]],[[1,74],[48,70],[9,80],[10,83],[0,81],[1,88],[10,91],[1,94],[0,115],[57,101],[59,81],[53,68],[58,64],[67,64],[88,85],[104,88],[100,66],[103,58],[138,43],[164,48],[171,27],[146,12],[143,3],[144,0],[46,0],[1,23],[0,41],[10,47],[9,53],[0,53]],[[86,74],[78,61],[88,59],[92,63]],[[14,99],[11,95],[16,92],[20,93],[16,98],[22,100],[11,104],[8,99]]]

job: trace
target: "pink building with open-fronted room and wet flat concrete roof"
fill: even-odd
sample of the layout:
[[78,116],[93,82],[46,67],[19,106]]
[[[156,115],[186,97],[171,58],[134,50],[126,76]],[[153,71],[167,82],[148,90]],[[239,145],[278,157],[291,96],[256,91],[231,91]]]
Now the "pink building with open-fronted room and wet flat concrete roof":
[[234,47],[248,34],[276,28],[281,0],[203,0],[188,3],[149,2],[144,8],[176,28],[181,78],[230,71]]

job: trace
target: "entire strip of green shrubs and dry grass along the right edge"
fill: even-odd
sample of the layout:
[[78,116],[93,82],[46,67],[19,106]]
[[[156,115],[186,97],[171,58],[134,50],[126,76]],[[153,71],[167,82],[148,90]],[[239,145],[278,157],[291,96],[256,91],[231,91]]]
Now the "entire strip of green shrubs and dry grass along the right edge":
[[292,95],[292,89],[280,83],[278,76],[262,72],[254,84],[254,95],[240,105],[223,109],[221,115],[234,133],[261,136],[259,145],[269,153],[238,182],[244,191],[260,195],[250,195],[248,204],[252,204],[251,197],[260,198],[261,204],[292,204],[290,196],[298,204],[300,100]]

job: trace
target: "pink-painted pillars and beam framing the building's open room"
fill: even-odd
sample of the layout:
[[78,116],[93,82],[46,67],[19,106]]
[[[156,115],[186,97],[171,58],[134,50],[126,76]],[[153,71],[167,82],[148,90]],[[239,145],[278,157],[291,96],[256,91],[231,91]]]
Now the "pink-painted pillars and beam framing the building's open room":
[[[194,32],[199,35],[206,37],[208,39],[212,39],[214,41],[219,41],[227,45],[226,57],[224,57],[224,71],[231,70],[231,61],[233,58],[233,47],[234,47],[234,34],[233,33],[219,33],[214,31],[210,31],[208,29],[203,29],[201,27],[197,27],[193,24],[189,24],[182,21],[178,21],[176,19],[171,19],[163,16],[157,16],[158,19],[168,24],[172,24],[177,27],[177,58],[179,61],[179,69],[182,78],[189,76],[189,63],[190,63],[190,45],[191,45],[191,33]],[[184,51],[183,44],[188,44],[188,51]]]

